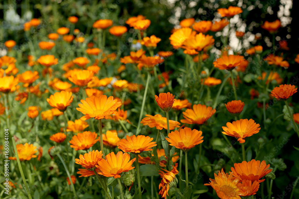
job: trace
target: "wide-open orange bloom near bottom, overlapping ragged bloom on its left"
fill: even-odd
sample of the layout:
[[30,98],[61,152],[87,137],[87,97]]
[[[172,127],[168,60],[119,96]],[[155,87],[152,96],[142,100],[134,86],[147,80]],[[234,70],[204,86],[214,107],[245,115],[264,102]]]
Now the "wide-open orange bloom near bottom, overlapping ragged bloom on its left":
[[100,159],[96,167],[100,169],[100,172],[98,172],[100,175],[120,178],[120,173],[128,172],[135,168],[134,166],[132,167],[135,160],[136,158],[133,158],[130,161],[130,155],[122,151],[119,151],[116,155],[114,152],[111,152],[106,155],[105,159]]

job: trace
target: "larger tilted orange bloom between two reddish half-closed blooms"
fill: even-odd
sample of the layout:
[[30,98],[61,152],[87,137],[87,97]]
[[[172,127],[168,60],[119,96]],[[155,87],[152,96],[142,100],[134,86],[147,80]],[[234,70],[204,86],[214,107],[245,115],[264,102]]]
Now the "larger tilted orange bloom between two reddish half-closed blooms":
[[186,124],[203,124],[207,121],[214,113],[216,109],[212,107],[206,107],[202,104],[194,104],[193,109],[187,109],[183,112],[185,119],[181,120],[182,123]]

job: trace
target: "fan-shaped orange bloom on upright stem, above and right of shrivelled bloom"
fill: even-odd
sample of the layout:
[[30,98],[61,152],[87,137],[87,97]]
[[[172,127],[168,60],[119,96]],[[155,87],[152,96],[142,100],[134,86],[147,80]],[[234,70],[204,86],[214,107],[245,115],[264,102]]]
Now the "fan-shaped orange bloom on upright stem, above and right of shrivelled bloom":
[[165,139],[170,143],[170,146],[175,146],[185,152],[203,142],[202,131],[191,130],[188,127],[180,129],[180,131],[172,131],[167,136],[168,138]]

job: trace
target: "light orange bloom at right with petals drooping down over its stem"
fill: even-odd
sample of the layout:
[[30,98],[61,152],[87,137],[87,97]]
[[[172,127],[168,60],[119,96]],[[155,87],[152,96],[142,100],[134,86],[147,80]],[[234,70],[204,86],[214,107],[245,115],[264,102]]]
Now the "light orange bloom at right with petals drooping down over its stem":
[[244,143],[246,137],[260,132],[260,124],[254,122],[253,119],[240,119],[233,121],[233,123],[226,123],[226,127],[222,127],[224,135],[233,136],[238,138],[240,143]]

